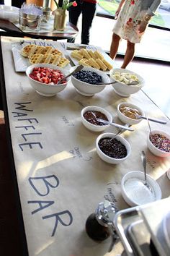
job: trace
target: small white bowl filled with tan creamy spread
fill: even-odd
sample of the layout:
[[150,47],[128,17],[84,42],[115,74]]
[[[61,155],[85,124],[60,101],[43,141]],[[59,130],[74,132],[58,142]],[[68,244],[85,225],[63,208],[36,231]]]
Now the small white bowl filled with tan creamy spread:
[[145,115],[139,106],[126,102],[122,102],[117,106],[117,116],[125,124],[138,124],[142,121],[137,117],[138,115]]

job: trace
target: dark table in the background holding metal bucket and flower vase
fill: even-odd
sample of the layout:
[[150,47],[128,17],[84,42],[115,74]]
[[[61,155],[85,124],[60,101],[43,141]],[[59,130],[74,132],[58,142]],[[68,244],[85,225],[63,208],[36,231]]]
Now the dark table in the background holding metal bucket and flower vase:
[[23,32],[16,25],[8,20],[0,20],[0,29],[5,30],[0,32],[0,35],[9,35],[14,37],[30,37],[30,38],[42,38],[42,39],[50,39],[50,40],[61,40],[61,39],[70,39],[75,38],[77,33],[79,32],[78,28],[71,24],[67,23],[68,27],[73,28],[72,33],[34,33],[34,32]]

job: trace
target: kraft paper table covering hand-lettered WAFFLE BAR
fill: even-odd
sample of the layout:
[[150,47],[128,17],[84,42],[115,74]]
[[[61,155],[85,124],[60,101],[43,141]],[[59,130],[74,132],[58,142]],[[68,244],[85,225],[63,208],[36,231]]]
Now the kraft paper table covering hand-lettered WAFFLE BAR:
[[[89,105],[101,106],[120,124],[116,108],[122,101],[138,104],[148,116],[159,119],[166,119],[166,116],[142,91],[130,98],[121,98],[112,86],[93,97],[85,97],[76,93],[70,82],[55,97],[42,97],[32,89],[24,73],[14,71],[12,41],[13,38],[3,37],[1,47],[29,255],[113,256],[121,253],[120,242],[107,253],[110,239],[101,243],[91,240],[85,231],[86,218],[104,198],[115,202],[119,209],[129,208],[122,199],[120,182],[128,171],[143,171],[141,150],[146,152],[148,174],[160,184],[163,198],[169,197],[166,171],[170,161],[148,151],[148,124],[143,120],[134,126],[135,132],[127,131],[122,135],[132,147],[130,157],[119,165],[105,163],[95,148],[100,133],[91,132],[81,124],[81,109]],[[166,120],[166,126],[152,122],[152,129],[169,132],[170,122]],[[117,129],[109,127],[106,132],[115,133]]]

